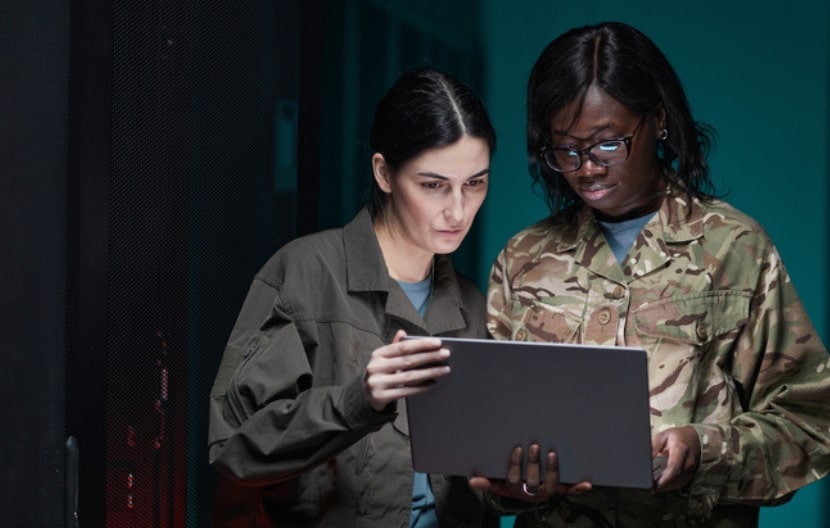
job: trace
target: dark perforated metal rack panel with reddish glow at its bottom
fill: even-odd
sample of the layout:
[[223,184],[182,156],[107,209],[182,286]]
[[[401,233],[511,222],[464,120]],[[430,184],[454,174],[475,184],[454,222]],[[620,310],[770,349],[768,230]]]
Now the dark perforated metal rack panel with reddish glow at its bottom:
[[298,5],[114,5],[109,527],[207,525],[210,385],[254,273],[295,234]]

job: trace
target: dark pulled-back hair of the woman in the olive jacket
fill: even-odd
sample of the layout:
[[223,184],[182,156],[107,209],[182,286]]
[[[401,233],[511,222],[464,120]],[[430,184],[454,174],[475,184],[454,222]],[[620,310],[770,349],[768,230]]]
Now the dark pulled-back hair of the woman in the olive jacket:
[[[452,145],[463,136],[496,149],[496,132],[484,104],[464,83],[432,68],[402,75],[380,100],[369,133],[373,152],[394,174],[425,150]],[[386,202],[372,178],[367,207],[375,218]]]

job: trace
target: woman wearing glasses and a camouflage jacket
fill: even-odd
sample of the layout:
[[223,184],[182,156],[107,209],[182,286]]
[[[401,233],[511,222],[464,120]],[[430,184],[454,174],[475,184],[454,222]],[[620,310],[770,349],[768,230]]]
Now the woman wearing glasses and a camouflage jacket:
[[524,511],[521,527],[756,526],[759,506],[830,468],[830,360],[776,248],[716,198],[711,133],[636,29],[555,39],[527,97],[531,173],[551,214],[497,257],[489,330],[645,348],[665,469],[651,490],[569,487],[555,471],[540,481],[532,446],[524,480],[517,451],[508,479],[471,484]]

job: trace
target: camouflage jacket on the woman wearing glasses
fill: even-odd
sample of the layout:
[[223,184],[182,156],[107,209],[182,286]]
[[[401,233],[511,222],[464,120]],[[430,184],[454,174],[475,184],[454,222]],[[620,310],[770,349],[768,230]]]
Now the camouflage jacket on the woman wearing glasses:
[[830,358],[776,248],[726,203],[687,204],[668,196],[622,265],[587,207],[497,257],[495,338],[645,348],[652,431],[691,424],[702,449],[681,492],[595,488],[517,527],[755,526],[830,469]]

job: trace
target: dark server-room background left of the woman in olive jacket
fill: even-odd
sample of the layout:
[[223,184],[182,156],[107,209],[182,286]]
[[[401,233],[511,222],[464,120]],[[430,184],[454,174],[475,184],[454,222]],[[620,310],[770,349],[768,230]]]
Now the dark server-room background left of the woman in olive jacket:
[[208,393],[251,278],[356,213],[399,72],[478,87],[477,25],[446,18],[474,20],[474,2],[15,4],[0,2],[0,524],[207,526]]

